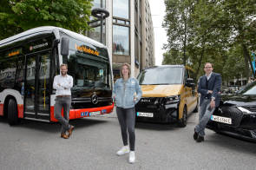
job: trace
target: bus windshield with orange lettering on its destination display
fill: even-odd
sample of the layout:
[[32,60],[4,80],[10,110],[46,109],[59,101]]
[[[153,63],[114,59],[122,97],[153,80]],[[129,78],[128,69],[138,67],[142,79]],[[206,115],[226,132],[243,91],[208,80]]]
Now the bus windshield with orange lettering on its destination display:
[[107,49],[69,37],[68,74],[73,76],[73,90],[101,88],[110,90],[111,72]]

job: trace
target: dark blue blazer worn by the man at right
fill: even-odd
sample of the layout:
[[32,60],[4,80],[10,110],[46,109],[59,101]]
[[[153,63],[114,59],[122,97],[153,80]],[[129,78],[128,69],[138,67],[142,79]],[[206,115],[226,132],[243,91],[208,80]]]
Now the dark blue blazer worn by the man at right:
[[200,76],[198,84],[198,93],[200,93],[200,105],[205,97],[207,97],[207,91],[213,90],[212,96],[215,97],[215,106],[218,107],[220,104],[220,88],[221,88],[221,75],[218,73],[212,73],[207,88],[207,76]]

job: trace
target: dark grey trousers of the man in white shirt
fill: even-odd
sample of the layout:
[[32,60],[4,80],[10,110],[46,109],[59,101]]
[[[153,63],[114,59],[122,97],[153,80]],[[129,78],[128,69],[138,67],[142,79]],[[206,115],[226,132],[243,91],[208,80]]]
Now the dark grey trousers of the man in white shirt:
[[[71,96],[56,97],[56,103],[54,105],[54,116],[62,124],[61,133],[64,134],[69,130],[69,109],[71,104]],[[63,116],[62,117],[62,108]]]

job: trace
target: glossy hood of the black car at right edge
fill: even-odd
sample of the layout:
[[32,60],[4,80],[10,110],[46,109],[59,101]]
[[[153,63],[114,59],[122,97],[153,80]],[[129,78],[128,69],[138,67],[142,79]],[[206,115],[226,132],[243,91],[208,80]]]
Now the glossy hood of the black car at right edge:
[[256,95],[222,95],[223,104],[235,106],[256,106]]

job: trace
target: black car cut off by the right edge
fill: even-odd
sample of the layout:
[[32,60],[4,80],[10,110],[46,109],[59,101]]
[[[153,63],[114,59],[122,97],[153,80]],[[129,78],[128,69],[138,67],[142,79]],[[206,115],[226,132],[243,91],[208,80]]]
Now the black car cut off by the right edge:
[[256,141],[256,82],[248,84],[235,95],[222,95],[207,128]]

